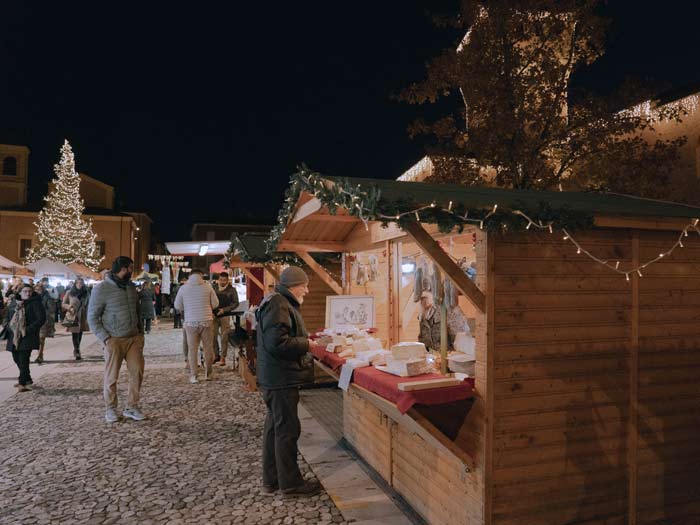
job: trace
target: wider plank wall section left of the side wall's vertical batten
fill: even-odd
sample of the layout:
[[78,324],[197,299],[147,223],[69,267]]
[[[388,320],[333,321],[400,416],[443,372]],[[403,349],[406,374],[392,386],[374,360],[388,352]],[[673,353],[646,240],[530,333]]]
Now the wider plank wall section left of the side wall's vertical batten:
[[[576,239],[631,262],[628,231]],[[549,233],[496,237],[494,264],[491,522],[626,523],[631,283]]]

